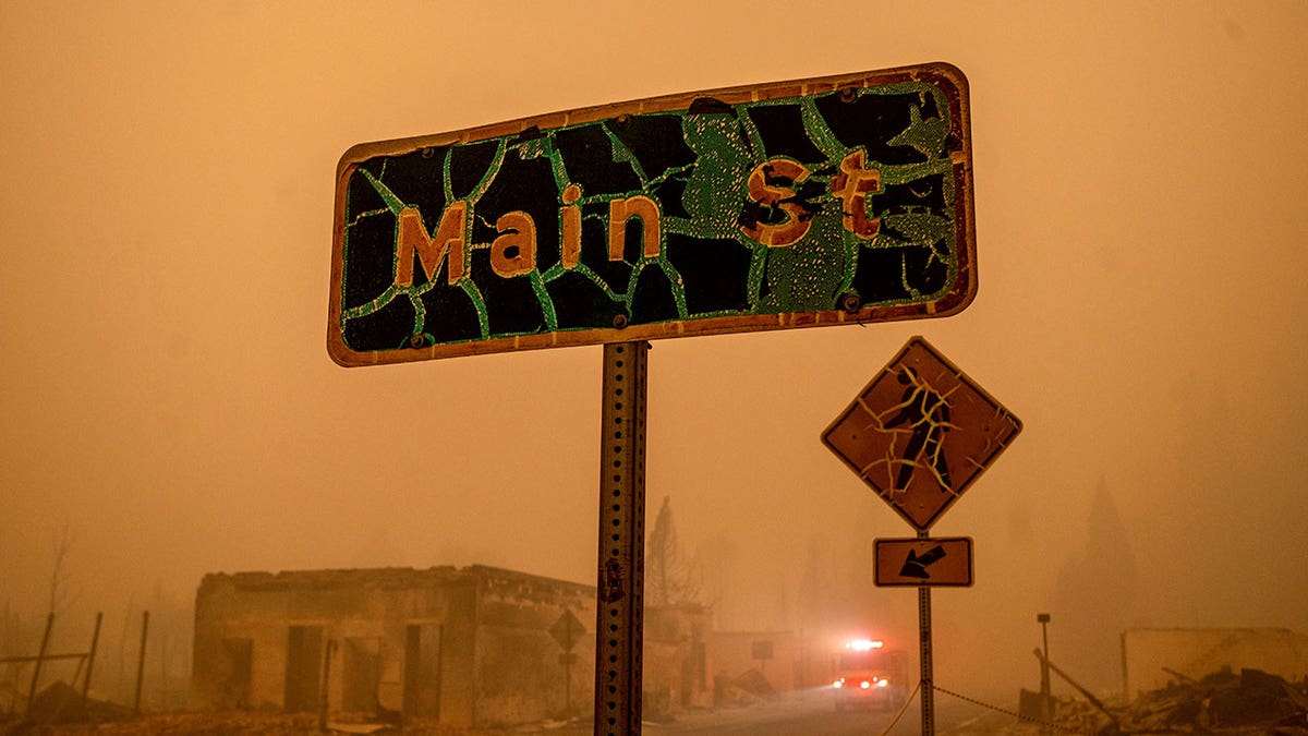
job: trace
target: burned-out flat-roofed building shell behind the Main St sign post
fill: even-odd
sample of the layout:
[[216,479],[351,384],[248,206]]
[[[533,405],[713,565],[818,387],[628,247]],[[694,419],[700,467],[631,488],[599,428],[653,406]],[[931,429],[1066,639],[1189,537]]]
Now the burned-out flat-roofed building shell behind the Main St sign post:
[[[712,697],[708,614],[647,612],[646,684]],[[493,567],[207,575],[191,705],[404,714],[459,727],[589,712],[595,588]]]

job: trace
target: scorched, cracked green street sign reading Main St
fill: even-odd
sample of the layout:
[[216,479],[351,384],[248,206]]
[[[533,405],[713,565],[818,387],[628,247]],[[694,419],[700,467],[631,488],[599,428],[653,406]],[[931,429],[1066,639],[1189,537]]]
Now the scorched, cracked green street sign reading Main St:
[[976,293],[948,64],[705,90],[351,148],[341,365],[939,317]]

